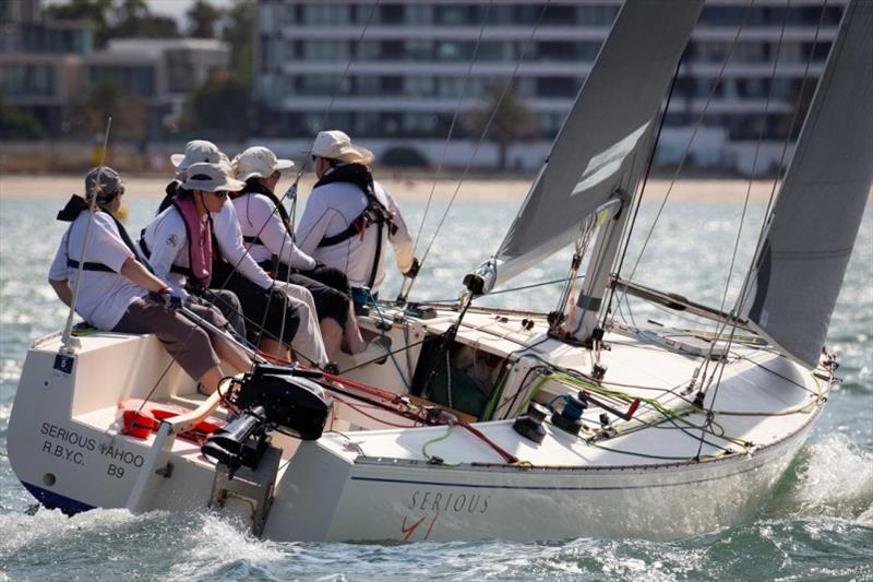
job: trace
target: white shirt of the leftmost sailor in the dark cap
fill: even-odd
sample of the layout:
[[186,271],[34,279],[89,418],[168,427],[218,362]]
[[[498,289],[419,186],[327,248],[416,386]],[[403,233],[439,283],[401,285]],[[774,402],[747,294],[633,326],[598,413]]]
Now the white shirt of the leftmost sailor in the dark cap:
[[[91,213],[82,212],[63,234],[55,260],[51,261],[48,277],[52,281],[69,281],[75,289],[79,270],[68,266],[67,259],[81,262]],[[112,271],[82,271],[82,283],[75,302],[75,311],[92,325],[111,330],[128,310],[128,306],[148,292],[120,274],[121,266],[133,252],[121,240],[118,227],[105,212],[94,214],[88,245],[84,252],[87,263],[100,263]]]

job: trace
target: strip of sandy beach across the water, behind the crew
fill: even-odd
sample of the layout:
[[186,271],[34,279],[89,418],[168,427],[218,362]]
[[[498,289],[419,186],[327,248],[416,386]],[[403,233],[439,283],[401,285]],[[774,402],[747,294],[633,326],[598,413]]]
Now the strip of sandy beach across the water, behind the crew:
[[[277,192],[285,192],[292,177],[283,176]],[[399,201],[424,201],[433,193],[434,200],[445,201],[457,191],[458,200],[490,202],[495,200],[524,200],[530,187],[530,180],[523,179],[481,179],[464,180],[458,188],[458,178],[441,178],[436,182],[432,178],[420,175],[405,179],[402,176],[380,174],[379,179]],[[164,187],[169,178],[130,177],[124,178],[127,195],[135,198],[159,199],[164,195]],[[312,190],[314,176],[309,175],[300,180],[299,192],[306,198]],[[72,175],[58,176],[0,176],[0,199],[65,199],[71,193],[82,192],[83,177]],[[751,200],[761,202],[768,200],[773,190],[772,181],[753,181],[750,189],[748,180],[681,180],[670,188],[670,181],[663,179],[649,180],[645,199],[660,202],[670,191],[670,200],[677,202],[721,203],[740,202],[750,192]]]

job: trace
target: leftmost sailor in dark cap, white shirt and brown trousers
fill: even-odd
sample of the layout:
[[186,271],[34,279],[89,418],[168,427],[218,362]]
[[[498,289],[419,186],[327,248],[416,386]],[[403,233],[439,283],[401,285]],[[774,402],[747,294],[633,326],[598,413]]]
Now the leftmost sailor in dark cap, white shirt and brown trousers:
[[214,392],[227,376],[222,363],[232,372],[249,370],[252,363],[232,342],[204,331],[175,309],[186,305],[216,328],[228,325],[217,309],[192,300],[141,262],[115,217],[123,194],[124,186],[112,168],[87,174],[85,198],[73,195],[58,213],[59,221],[71,225],[51,262],[49,284],[61,301],[67,306],[75,301],[76,313],[98,329],[154,333],[191,378]]

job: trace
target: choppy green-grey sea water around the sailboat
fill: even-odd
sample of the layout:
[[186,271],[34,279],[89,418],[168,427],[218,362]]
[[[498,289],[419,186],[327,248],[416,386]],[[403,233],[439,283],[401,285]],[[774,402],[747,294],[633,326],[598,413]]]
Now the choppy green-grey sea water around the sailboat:
[[[44,509],[21,487],[4,456],[9,415],[29,342],[57,330],[65,310],[45,283],[63,231],[60,201],[0,200],[0,581],[2,580],[873,580],[873,214],[868,210],[830,324],[828,345],[845,379],[773,498],[752,523],[672,543],[578,538],[383,544],[277,544],[238,533],[208,513],[95,510],[73,518]],[[155,201],[132,200],[137,231]],[[407,202],[419,224],[423,203]],[[439,204],[436,210],[440,211]],[[642,240],[656,209],[644,206]],[[513,203],[458,203],[433,246],[414,297],[449,299],[470,266],[492,251]],[[658,223],[635,278],[720,305],[742,283],[753,242],[728,268],[741,204],[674,204]],[[756,231],[764,209],[750,209]],[[435,224],[435,215],[430,223]],[[681,231],[682,237],[671,237]],[[430,231],[426,230],[419,256]],[[746,239],[751,237],[745,237]],[[722,249],[722,250],[719,250]],[[629,252],[633,266],[639,244]],[[570,252],[543,262],[522,286],[566,274]],[[392,296],[398,277],[384,286]],[[492,305],[554,308],[550,285],[490,298]],[[728,305],[734,296],[728,295]],[[623,313],[659,321],[654,308]],[[518,524],[524,527],[524,523]]]

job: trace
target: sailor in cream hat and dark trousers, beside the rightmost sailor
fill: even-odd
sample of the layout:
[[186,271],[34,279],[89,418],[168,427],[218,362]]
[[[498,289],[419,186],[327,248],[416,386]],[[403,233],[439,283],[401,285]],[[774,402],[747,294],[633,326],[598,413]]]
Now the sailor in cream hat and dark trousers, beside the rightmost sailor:
[[238,180],[246,187],[230,194],[249,253],[267,272],[309,289],[315,301],[322,337],[328,357],[345,342],[350,354],[363,352],[355,318],[351,288],[345,273],[323,265],[302,252],[294,241],[290,216],[276,198],[282,170],[294,166],[263,146],[249,147],[232,162]]

